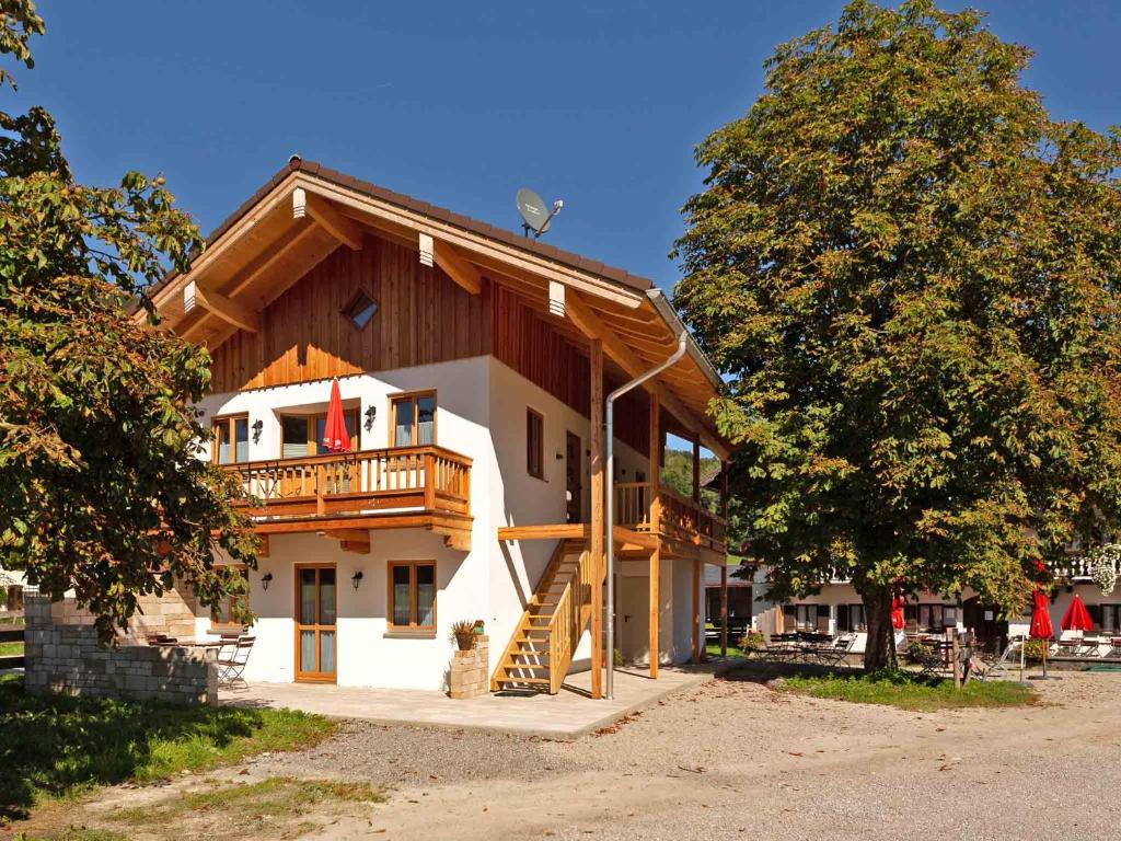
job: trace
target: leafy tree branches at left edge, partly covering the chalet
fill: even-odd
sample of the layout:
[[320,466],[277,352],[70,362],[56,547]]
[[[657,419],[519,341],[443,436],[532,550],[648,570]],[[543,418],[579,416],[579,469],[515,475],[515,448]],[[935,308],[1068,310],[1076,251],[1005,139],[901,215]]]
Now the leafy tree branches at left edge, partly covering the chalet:
[[[33,67],[34,3],[0,11],[0,52]],[[73,589],[104,638],[176,580],[215,604],[244,584],[213,549],[252,564],[256,540],[197,458],[210,359],[132,315],[155,320],[149,287],[198,231],[160,177],[76,183],[43,109],[0,112],[0,567]]]

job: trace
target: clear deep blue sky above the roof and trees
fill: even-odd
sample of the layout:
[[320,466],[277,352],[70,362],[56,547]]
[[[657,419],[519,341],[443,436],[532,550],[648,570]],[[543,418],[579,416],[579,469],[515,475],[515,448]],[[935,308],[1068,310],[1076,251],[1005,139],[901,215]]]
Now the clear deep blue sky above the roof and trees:
[[[970,4],[1035,50],[1053,113],[1121,122],[1121,2]],[[530,185],[565,200],[550,242],[671,286],[693,147],[841,6],[43,0],[17,108],[54,112],[84,182],[165,173],[204,233],[298,151],[509,228]]]

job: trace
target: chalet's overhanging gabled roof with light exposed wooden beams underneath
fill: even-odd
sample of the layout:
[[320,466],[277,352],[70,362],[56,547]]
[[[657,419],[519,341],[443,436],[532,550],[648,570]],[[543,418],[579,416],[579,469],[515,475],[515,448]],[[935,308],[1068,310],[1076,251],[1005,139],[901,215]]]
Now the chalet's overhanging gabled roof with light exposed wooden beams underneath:
[[649,280],[298,159],[207,239],[188,271],[152,292],[161,327],[211,348],[253,332],[257,313],[327,255],[361,248],[363,229],[415,249],[467,292],[484,276],[512,289],[569,338],[602,341],[630,377],[670,355],[685,331],[688,352],[652,387],[680,432],[728,458],[707,415],[720,375]]

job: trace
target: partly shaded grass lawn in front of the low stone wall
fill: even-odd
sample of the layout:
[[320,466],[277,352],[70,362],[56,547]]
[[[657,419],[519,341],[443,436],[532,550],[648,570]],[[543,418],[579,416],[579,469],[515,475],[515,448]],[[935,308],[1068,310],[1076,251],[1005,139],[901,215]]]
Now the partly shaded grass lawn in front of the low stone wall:
[[176,706],[28,695],[0,677],[0,825],[41,798],[204,770],[324,739],[334,723],[293,710]]

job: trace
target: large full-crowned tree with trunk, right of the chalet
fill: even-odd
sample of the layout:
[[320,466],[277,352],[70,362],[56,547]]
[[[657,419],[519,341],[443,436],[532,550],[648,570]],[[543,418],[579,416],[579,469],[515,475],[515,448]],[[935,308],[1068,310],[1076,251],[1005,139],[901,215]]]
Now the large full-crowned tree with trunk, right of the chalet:
[[675,297],[773,598],[851,577],[1019,609],[1121,510],[1115,131],[1053,120],[974,11],[867,0],[777,48],[697,148]]

